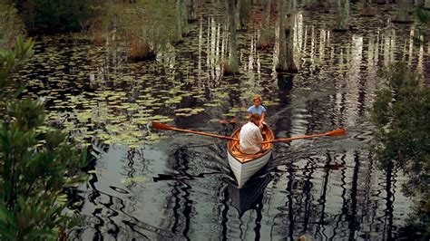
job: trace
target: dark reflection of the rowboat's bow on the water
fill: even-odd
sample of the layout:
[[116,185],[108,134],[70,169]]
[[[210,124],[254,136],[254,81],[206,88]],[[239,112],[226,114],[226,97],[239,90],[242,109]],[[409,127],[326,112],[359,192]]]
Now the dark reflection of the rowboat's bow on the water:
[[236,183],[229,182],[228,195],[231,205],[238,210],[239,217],[242,217],[249,209],[258,208],[258,204],[263,198],[264,189],[272,178],[266,169],[261,174],[250,178],[243,188],[238,188]]

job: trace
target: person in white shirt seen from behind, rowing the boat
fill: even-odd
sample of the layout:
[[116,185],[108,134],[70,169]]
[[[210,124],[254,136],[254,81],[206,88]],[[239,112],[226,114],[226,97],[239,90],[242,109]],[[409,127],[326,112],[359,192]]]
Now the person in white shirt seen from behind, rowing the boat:
[[259,113],[249,114],[249,121],[242,126],[239,132],[239,150],[243,154],[256,154],[263,151],[261,142],[263,137],[259,129]]

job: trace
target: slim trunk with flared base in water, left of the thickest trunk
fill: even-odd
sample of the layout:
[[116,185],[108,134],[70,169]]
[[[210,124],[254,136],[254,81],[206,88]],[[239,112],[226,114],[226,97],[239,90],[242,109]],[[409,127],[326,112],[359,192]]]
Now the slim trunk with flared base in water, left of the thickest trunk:
[[229,63],[224,66],[224,74],[239,72],[238,44],[236,43],[236,1],[226,0],[229,13],[230,56]]

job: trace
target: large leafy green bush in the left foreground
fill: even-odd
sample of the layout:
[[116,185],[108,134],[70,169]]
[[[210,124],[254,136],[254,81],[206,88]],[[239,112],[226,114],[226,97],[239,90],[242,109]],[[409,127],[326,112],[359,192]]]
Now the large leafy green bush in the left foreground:
[[[1,51],[0,92],[20,88],[10,81],[31,56],[32,41],[21,38],[14,51]],[[11,91],[12,92],[12,91]],[[56,240],[77,218],[67,214],[64,188],[84,176],[86,155],[45,122],[43,102],[4,96],[0,110],[0,239]]]

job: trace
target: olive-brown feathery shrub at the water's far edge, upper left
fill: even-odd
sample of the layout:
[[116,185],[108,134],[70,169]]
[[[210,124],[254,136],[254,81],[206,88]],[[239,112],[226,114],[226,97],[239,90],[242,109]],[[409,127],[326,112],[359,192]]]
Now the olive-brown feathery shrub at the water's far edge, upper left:
[[176,22],[182,20],[176,13],[169,1],[110,3],[103,16],[94,21],[93,43],[125,47],[125,54],[132,60],[154,59],[167,43],[177,39]]

